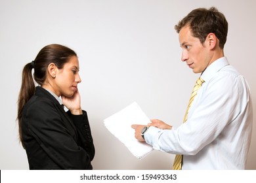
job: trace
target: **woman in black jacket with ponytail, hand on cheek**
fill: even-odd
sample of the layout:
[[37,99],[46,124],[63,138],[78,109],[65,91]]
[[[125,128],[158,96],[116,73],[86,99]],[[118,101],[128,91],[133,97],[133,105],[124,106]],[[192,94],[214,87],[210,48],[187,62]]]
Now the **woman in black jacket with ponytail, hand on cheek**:
[[95,148],[81,109],[78,72],[75,52],[59,44],[45,46],[23,69],[18,124],[30,169],[93,168]]

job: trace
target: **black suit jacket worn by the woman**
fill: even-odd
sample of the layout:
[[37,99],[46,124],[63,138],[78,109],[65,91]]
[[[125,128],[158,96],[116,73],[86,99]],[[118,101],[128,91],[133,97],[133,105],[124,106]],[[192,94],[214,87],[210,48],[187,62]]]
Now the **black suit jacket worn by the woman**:
[[30,169],[92,169],[95,147],[87,112],[65,112],[44,88],[37,87],[24,106],[22,137]]

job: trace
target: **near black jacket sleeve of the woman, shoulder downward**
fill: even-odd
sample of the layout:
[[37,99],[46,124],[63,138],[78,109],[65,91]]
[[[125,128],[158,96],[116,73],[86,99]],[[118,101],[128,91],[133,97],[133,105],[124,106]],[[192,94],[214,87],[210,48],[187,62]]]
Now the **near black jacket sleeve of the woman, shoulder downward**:
[[[28,131],[43,149],[41,153],[47,154],[61,169],[92,169],[93,139],[82,139],[81,135],[77,135],[74,124],[65,115],[51,101],[33,103],[26,111]],[[77,118],[85,119],[84,115],[74,116],[73,120],[75,124],[87,124],[86,120],[81,122]]]

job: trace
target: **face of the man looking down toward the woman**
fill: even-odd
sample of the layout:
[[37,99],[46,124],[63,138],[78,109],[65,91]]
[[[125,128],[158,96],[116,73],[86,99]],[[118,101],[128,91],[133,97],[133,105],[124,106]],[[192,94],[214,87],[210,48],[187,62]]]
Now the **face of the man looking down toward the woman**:
[[192,36],[190,27],[183,27],[179,33],[179,42],[182,48],[181,60],[186,61],[194,73],[202,73],[211,64],[208,46]]

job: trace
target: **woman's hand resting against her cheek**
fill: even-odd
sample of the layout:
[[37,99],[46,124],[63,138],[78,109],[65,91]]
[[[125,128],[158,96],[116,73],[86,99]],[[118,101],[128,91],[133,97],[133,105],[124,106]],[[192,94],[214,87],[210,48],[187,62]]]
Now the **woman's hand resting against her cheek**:
[[83,114],[81,109],[81,99],[80,93],[77,91],[74,93],[72,97],[66,97],[64,95],[61,96],[63,104],[70,110],[70,112],[74,115]]

